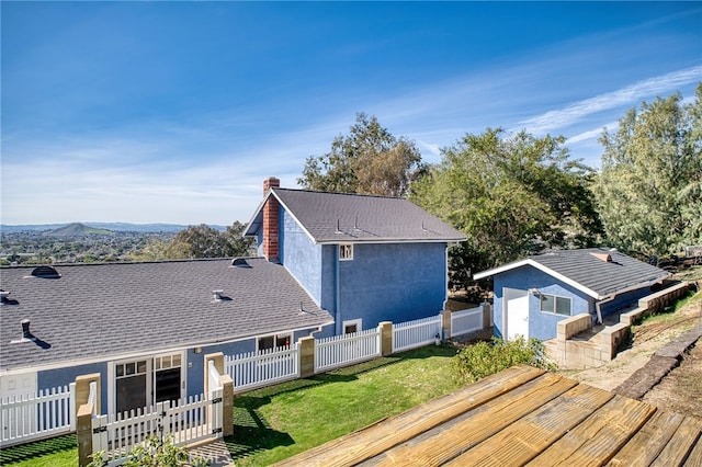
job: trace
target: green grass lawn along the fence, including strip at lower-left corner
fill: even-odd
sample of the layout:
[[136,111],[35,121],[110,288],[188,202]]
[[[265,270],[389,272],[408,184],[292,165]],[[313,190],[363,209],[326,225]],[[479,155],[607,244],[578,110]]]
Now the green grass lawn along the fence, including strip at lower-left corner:
[[[429,345],[360,365],[235,396],[237,466],[264,466],[456,389],[456,349]],[[1,465],[76,466],[75,436],[4,449]],[[50,442],[49,442],[50,444]],[[32,454],[34,453],[34,454]]]

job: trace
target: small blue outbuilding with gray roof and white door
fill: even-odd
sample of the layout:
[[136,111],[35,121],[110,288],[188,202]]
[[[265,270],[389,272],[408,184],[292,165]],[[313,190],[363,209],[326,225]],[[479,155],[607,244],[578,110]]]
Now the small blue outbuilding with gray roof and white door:
[[587,314],[591,324],[631,307],[670,274],[616,250],[548,250],[483,271],[492,278],[498,338],[554,339],[557,323]]

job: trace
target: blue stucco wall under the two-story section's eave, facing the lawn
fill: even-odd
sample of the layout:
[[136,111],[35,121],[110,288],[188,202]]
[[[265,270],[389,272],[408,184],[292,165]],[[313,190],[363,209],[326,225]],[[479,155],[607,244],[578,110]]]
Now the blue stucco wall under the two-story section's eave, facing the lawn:
[[338,321],[403,322],[439,314],[446,297],[445,243],[354,244],[338,262]]

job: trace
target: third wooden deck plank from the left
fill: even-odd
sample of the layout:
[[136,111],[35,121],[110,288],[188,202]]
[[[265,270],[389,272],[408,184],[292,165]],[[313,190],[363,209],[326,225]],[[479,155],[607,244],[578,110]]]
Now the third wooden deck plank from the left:
[[613,397],[578,385],[445,465],[524,465]]

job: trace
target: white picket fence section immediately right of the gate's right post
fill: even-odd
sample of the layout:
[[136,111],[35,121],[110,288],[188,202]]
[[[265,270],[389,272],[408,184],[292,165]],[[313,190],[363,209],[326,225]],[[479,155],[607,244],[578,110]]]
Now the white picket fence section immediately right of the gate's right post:
[[299,377],[297,344],[290,348],[225,355],[224,362],[225,372],[231,377],[236,392]]

